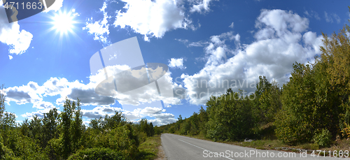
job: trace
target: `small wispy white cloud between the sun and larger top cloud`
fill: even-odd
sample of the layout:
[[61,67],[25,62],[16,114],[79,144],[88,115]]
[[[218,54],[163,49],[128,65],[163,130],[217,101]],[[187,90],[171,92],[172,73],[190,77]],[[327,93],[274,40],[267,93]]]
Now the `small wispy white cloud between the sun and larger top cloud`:
[[111,16],[108,16],[106,13],[107,4],[104,2],[104,6],[100,9],[101,12],[104,13],[104,19],[99,21],[94,21],[92,17],[90,17],[86,22],[86,27],[83,29],[87,29],[89,34],[94,34],[94,40],[101,41],[104,44],[109,44],[107,40],[107,36],[109,35],[109,24],[108,20]]

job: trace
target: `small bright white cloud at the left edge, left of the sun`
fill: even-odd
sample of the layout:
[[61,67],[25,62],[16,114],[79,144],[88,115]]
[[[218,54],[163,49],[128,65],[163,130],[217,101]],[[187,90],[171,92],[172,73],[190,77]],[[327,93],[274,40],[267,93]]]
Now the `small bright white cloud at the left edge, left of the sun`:
[[5,8],[0,6],[0,42],[10,46],[10,54],[24,53],[29,48],[32,38],[31,33],[20,30],[18,22],[8,23]]

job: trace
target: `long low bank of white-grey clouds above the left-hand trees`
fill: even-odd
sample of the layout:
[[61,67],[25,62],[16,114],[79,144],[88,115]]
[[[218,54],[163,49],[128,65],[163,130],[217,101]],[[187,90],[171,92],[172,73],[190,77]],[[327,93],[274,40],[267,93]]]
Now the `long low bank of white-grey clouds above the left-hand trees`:
[[[108,70],[119,71],[118,67],[109,67]],[[150,68],[150,73],[154,72],[150,78],[158,79],[157,69]],[[99,73],[102,73],[101,71]],[[104,77],[104,75],[100,75]],[[116,103],[116,98],[110,96],[102,96],[95,92],[97,86],[97,75],[90,76],[90,83],[83,84],[78,80],[69,82],[66,78],[50,78],[43,85],[38,85],[36,82],[29,82],[27,85],[20,87],[9,87],[5,90],[6,102],[15,101],[18,104],[33,103],[33,108],[36,108],[35,112],[27,112],[22,117],[31,118],[33,115],[43,117],[45,112],[49,112],[50,109],[55,106],[50,102],[43,101],[45,96],[57,96],[56,105],[63,105],[65,98],[76,101],[76,98],[80,99],[82,106],[97,106],[92,110],[82,109],[83,116],[87,118],[99,118],[104,115],[114,115],[115,111],[123,112],[128,119],[140,119],[145,116],[155,117],[156,119],[171,119],[174,115],[165,113],[162,106],[157,106],[154,101],[160,101],[162,99],[165,106],[169,106],[172,103],[180,103],[180,99],[176,96],[169,96],[166,93],[173,93],[173,88],[162,87],[163,84],[172,82],[172,78],[169,73],[166,73],[164,78],[158,79],[158,85],[160,86],[160,92],[162,96],[158,94],[158,89],[153,84],[152,86],[141,87],[137,91],[126,92],[119,94],[118,101],[123,104],[123,109],[113,108],[112,104]],[[117,78],[118,80],[118,78]],[[181,87],[181,85],[174,85],[174,87]],[[169,90],[169,91],[167,91]],[[135,106],[134,110],[127,110],[125,105]],[[146,106],[146,107],[145,107]],[[82,107],[83,108],[83,107]]]

